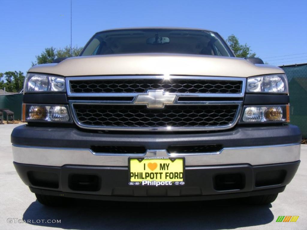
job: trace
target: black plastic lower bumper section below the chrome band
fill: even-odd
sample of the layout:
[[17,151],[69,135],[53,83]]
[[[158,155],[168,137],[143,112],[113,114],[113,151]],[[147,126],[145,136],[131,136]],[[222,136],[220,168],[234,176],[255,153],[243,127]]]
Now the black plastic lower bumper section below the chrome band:
[[[115,201],[191,201],[282,192],[299,163],[186,167],[185,185],[160,187],[129,186],[127,167],[47,167],[19,163],[14,166],[22,181],[38,194]],[[83,178],[78,184],[76,178],[82,175],[95,176],[97,180],[89,180],[86,185]],[[226,181],[221,181],[223,175]],[[229,187],[231,175],[235,182]]]

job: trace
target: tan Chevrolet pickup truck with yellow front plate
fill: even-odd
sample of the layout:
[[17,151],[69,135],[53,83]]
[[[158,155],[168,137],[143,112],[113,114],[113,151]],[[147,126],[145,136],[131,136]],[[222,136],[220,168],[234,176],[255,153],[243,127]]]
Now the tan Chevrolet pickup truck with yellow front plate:
[[70,198],[268,204],[300,163],[284,71],[205,29],[96,33],[29,69],[14,166],[44,205]]

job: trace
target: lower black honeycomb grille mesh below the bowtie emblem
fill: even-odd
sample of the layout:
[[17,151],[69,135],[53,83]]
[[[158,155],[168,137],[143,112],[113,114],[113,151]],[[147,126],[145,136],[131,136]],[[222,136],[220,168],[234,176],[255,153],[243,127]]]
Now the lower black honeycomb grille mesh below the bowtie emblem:
[[166,105],[149,109],[146,105],[74,104],[82,125],[96,127],[208,127],[234,122],[239,105]]

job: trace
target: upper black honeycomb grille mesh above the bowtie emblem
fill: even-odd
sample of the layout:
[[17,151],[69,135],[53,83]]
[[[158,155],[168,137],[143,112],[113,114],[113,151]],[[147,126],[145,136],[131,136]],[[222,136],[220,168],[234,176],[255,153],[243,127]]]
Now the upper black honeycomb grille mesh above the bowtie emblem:
[[169,93],[240,94],[242,81],[208,79],[95,79],[71,80],[71,93],[146,93],[165,90]]

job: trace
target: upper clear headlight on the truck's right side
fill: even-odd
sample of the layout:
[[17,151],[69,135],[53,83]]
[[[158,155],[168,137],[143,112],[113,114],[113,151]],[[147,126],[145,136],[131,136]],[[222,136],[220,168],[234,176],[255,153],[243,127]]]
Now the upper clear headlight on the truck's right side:
[[247,79],[246,92],[250,93],[288,93],[285,74],[250,77]]

